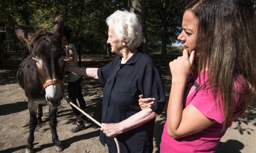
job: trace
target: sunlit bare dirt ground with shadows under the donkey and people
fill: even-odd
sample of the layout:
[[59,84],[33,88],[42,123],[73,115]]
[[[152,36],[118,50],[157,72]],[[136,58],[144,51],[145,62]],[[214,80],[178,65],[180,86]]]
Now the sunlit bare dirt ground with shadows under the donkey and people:
[[[159,67],[159,66],[158,66]],[[167,97],[168,77],[163,76]],[[87,112],[100,121],[102,111],[102,86],[99,81],[85,78],[82,92],[87,102]],[[29,132],[29,111],[27,97],[16,81],[16,68],[0,69],[0,152],[24,153]],[[108,153],[99,141],[100,128],[95,123],[87,124],[87,129],[78,133],[69,130],[74,126],[75,116],[69,104],[62,100],[58,108],[58,136],[64,150],[61,153]],[[34,152],[56,152],[51,141],[48,123],[48,106],[43,107],[42,124],[35,131]],[[218,146],[217,153],[256,153],[256,109],[249,116],[236,120],[226,132]],[[154,153],[160,151],[161,133],[166,120],[166,111],[156,118],[154,131]]]

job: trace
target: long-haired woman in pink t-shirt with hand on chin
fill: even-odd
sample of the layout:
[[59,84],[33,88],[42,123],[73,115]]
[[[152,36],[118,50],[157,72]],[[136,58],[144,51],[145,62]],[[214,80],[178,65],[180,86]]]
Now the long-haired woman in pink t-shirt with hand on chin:
[[[171,92],[160,153],[214,153],[255,102],[255,18],[251,0],[189,0],[169,63]],[[154,105],[140,95],[142,109]]]

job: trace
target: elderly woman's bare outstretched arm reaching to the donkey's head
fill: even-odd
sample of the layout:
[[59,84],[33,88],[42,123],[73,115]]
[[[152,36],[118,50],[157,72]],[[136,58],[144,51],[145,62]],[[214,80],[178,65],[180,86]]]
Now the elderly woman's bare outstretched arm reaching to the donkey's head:
[[70,72],[81,74],[86,77],[91,77],[93,79],[99,79],[97,74],[98,68],[78,68],[78,67],[71,66],[66,61],[64,63],[65,63],[65,68],[67,68],[67,70],[69,70]]

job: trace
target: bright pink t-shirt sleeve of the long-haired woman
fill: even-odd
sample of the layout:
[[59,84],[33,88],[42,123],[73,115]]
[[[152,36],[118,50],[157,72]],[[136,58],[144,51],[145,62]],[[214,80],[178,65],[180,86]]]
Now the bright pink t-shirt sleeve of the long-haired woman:
[[[218,101],[222,104],[220,98]],[[191,104],[196,107],[201,113],[203,113],[207,118],[216,120],[216,122],[223,124],[224,114],[222,106],[215,104],[211,89],[201,90],[192,99]]]

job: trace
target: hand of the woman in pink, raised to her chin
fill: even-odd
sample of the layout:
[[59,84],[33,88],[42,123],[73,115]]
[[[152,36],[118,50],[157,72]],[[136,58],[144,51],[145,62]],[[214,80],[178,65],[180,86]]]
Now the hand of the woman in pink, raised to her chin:
[[188,50],[183,50],[183,55],[174,59],[169,63],[172,79],[187,80],[187,77],[192,71],[195,51],[192,51],[190,57]]

